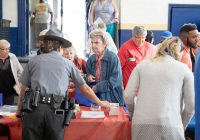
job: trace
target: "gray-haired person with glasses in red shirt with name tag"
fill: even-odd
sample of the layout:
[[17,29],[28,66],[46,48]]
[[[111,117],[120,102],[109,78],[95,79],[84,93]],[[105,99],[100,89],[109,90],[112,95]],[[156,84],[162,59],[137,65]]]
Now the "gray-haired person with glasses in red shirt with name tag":
[[153,57],[156,53],[156,47],[145,41],[146,36],[147,30],[143,26],[135,26],[132,30],[132,38],[125,42],[118,51],[124,88],[136,65],[142,60]]

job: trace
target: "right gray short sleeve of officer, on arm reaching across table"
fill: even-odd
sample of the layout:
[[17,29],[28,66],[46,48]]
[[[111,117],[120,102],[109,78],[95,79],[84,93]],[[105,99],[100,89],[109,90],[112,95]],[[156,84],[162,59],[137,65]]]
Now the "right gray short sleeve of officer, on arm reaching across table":
[[73,64],[71,68],[71,78],[76,87],[80,87],[85,84],[85,80],[80,74],[78,68]]

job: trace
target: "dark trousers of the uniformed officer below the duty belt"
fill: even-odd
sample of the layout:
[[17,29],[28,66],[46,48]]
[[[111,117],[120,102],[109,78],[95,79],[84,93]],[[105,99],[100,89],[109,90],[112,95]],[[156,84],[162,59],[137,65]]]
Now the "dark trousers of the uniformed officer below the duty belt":
[[25,112],[22,140],[63,140],[64,115],[55,114],[50,104],[39,104],[32,112]]

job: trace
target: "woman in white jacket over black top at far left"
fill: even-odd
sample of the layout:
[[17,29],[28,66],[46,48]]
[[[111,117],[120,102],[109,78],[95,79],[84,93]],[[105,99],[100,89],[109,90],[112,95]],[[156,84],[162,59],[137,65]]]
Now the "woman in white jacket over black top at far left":
[[3,93],[3,105],[13,105],[15,93],[20,93],[18,79],[22,71],[17,57],[10,53],[10,43],[0,40],[0,93]]

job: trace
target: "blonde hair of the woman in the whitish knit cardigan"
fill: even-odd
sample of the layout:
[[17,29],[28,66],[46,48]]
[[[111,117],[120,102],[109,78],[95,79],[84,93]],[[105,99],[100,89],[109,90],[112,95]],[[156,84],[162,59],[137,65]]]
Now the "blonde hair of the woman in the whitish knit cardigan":
[[168,37],[165,39],[162,43],[160,43],[157,47],[157,53],[152,60],[160,57],[160,56],[167,56],[167,53],[170,53],[172,57],[174,57],[176,60],[180,61],[180,44],[181,40],[179,37]]

